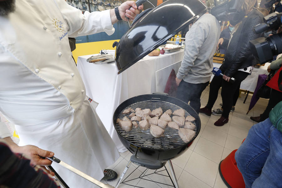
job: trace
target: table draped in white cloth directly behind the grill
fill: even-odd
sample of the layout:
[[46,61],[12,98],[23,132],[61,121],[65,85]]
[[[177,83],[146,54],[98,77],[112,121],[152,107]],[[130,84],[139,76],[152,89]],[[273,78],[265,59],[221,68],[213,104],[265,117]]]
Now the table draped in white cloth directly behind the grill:
[[179,69],[184,50],[159,56],[146,55],[119,75],[114,62],[101,65],[88,63],[86,60],[91,56],[83,55],[77,59],[77,68],[86,87],[86,95],[99,103],[97,114],[119,152],[124,152],[126,148],[113,126],[114,111],[128,98],[163,92],[171,70]]

